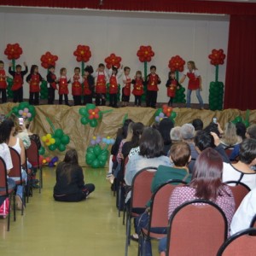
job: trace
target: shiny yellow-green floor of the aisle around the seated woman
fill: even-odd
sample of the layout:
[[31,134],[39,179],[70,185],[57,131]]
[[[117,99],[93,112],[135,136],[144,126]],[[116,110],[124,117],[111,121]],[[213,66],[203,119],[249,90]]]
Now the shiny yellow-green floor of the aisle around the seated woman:
[[[24,216],[17,212],[0,219],[0,255],[125,255],[125,226],[118,217],[115,197],[106,170],[84,168],[86,183],[95,183],[96,191],[86,201],[56,202],[52,197],[55,168],[44,167],[44,189],[26,205]],[[154,255],[157,243],[153,243]],[[137,255],[137,242],[131,241],[129,256]]]

